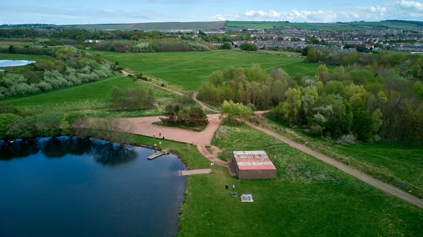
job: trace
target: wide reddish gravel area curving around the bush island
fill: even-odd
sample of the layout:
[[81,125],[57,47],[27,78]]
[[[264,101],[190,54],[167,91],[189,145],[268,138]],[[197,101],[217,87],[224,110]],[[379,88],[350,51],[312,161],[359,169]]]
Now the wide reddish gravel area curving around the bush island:
[[[149,137],[153,137],[154,135],[156,138],[159,138],[159,133],[161,133],[162,137],[165,137],[166,140],[207,145],[210,144],[215,131],[221,124],[219,114],[210,114],[207,115],[209,124],[207,125],[206,129],[204,129],[202,132],[194,132],[187,129],[152,124],[153,122],[160,122],[160,117],[162,116],[136,117],[126,119],[135,125],[136,129],[134,134],[140,134]],[[157,141],[157,143],[159,142],[160,141]],[[161,140],[161,142],[163,143],[165,141]]]

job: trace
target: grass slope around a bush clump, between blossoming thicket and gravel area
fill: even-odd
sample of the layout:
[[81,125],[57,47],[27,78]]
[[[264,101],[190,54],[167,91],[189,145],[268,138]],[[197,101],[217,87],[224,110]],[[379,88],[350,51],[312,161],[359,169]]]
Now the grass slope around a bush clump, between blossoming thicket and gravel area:
[[142,88],[146,91],[151,90],[156,95],[159,105],[163,107],[177,100],[177,95],[171,92],[161,90],[140,80],[133,82],[131,78],[118,74],[96,82],[56,89],[46,93],[8,98],[3,102],[16,106],[20,110],[36,114],[46,110],[85,111],[88,115],[96,117],[138,117],[161,114],[161,111],[157,111],[157,109],[140,111],[107,110],[110,108],[112,90],[115,86],[122,89]]

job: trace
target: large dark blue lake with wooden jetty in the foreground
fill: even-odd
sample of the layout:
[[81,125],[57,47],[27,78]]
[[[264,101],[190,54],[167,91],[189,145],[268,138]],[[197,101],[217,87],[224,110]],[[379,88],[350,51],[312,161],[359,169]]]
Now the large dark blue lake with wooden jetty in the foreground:
[[68,137],[0,143],[0,236],[174,236],[185,167],[154,153]]

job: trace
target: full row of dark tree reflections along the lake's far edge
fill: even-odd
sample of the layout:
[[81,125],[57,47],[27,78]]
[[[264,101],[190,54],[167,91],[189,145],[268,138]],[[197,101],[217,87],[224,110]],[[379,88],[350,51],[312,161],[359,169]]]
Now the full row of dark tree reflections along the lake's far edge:
[[67,154],[89,154],[95,161],[105,165],[118,165],[137,157],[137,152],[132,146],[82,137],[0,141],[1,160],[26,157],[40,150],[48,158],[60,158]]

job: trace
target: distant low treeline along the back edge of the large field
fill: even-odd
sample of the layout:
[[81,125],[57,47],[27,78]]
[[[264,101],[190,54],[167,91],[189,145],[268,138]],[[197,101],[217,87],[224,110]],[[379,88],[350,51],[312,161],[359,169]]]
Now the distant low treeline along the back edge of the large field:
[[210,51],[215,49],[210,44],[184,41],[181,39],[162,39],[148,41],[103,41],[94,45],[94,49],[115,52],[185,52]]

